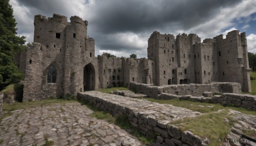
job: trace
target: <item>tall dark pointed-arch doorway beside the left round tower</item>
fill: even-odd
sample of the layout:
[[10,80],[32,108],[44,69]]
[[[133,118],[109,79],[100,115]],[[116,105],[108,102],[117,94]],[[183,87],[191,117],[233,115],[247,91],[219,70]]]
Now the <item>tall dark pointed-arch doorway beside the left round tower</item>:
[[95,69],[92,63],[84,66],[84,91],[95,90]]

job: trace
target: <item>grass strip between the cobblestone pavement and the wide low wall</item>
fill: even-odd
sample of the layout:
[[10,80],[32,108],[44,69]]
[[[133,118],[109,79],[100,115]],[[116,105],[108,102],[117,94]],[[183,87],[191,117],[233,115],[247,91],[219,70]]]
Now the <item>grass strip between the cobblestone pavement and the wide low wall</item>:
[[130,129],[131,134],[136,136],[138,138],[138,140],[140,140],[144,144],[150,144],[150,143],[155,142],[156,135],[155,135],[155,137],[148,137],[148,136],[144,135],[143,133],[139,132],[131,125],[131,123],[129,122],[129,119],[126,115],[122,115],[121,117],[112,116],[108,112],[100,111],[99,109],[97,109],[95,106],[93,106],[93,103],[83,102],[82,104],[87,105],[87,107],[89,109],[94,111],[91,114],[92,117],[96,117],[97,119],[105,120],[108,123],[113,123],[113,124],[119,126],[121,129]]

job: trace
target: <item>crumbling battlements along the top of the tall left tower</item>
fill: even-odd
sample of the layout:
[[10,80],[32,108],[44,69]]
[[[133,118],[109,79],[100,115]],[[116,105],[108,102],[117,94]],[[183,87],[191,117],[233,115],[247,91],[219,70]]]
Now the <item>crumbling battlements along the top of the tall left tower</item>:
[[41,14],[35,15],[34,24],[36,21],[56,21],[58,23],[81,23],[82,25],[88,25],[87,20],[82,20],[82,18],[78,16],[71,16],[70,22],[67,22],[67,17],[60,14],[53,14],[53,17],[46,17]]

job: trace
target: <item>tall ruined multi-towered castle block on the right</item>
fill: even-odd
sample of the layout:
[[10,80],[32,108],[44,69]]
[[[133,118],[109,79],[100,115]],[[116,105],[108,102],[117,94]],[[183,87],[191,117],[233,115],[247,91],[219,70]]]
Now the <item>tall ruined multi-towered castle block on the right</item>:
[[251,92],[245,33],[231,31],[213,39],[196,34],[160,34],[148,39],[148,59],[154,61],[154,85],[236,82]]

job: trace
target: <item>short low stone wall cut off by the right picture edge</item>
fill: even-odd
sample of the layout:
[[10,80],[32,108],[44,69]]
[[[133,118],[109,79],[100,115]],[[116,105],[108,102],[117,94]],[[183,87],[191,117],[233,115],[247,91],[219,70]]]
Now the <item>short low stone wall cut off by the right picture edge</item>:
[[249,94],[224,93],[221,96],[213,96],[211,102],[256,110],[256,96]]

